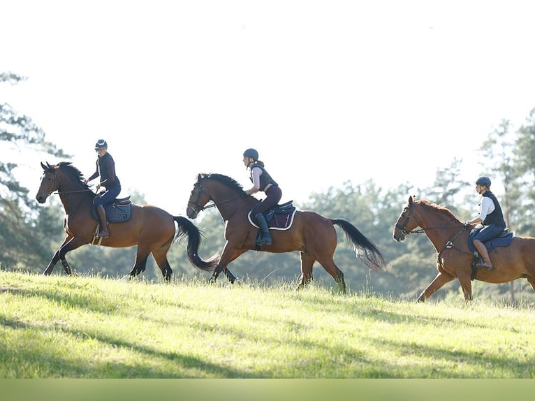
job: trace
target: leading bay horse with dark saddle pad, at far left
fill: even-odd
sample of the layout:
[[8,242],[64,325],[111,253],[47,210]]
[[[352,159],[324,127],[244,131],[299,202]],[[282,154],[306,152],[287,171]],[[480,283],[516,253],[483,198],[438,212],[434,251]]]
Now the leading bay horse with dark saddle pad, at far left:
[[[97,221],[91,215],[91,207],[96,194],[84,184],[82,173],[70,162],[62,161],[56,165],[47,163],[46,166],[41,163],[41,167],[44,173],[36,200],[38,203],[45,203],[48,196],[57,191],[65,209],[64,230],[67,233],[43,274],[50,275],[54,265],[61,261],[65,272],[71,275],[71,266],[68,265],[65,255],[93,240]],[[178,229],[175,228],[175,222]],[[214,263],[203,261],[197,256],[200,231],[185,217],[173,216],[155,206],[132,205],[129,221],[109,224],[108,227],[110,237],[103,238],[101,245],[104,247],[122,248],[138,245],[130,277],[145,271],[147,258],[152,254],[163,278],[166,282],[170,282],[173,270],[167,260],[167,253],[173,239],[179,240],[184,235],[188,237],[187,252],[191,264],[200,270],[214,271]]]

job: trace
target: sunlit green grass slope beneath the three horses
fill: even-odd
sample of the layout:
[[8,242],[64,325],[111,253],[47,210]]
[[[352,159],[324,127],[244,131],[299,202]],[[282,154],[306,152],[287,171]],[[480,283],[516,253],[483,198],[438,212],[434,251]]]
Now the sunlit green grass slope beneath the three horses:
[[529,305],[17,272],[0,305],[1,378],[535,376]]

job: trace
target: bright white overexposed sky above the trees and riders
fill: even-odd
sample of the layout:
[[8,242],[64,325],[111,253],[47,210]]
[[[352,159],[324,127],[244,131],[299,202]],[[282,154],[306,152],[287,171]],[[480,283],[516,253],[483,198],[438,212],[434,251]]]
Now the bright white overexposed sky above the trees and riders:
[[[515,0],[1,0],[0,71],[27,80],[0,101],[72,155],[43,161],[87,177],[103,138],[121,195],[175,215],[198,173],[247,189],[249,147],[281,201],[421,189],[455,158],[474,181],[488,134],[535,108],[534,15]],[[41,160],[17,159],[33,197]]]

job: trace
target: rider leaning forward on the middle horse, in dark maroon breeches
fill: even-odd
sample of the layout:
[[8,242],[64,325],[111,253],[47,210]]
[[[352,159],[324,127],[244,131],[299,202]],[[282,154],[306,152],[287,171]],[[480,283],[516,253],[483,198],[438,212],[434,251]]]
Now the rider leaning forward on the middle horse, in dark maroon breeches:
[[275,182],[268,171],[264,168],[263,161],[258,160],[258,152],[254,149],[247,149],[243,152],[243,163],[246,168],[249,168],[251,173],[251,182],[253,187],[247,189],[247,195],[255,194],[258,191],[263,191],[266,198],[255,209],[255,218],[258,221],[262,234],[258,239],[258,245],[271,245],[271,235],[268,228],[268,222],[265,221],[264,214],[271,207],[277,205],[281,200],[282,191],[279,184]]

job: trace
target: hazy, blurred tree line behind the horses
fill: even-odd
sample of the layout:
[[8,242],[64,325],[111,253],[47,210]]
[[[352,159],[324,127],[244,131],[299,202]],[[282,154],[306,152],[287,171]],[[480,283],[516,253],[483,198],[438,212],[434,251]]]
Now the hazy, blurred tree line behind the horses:
[[[24,77],[13,73],[0,73],[0,85],[16,85]],[[0,102],[2,99],[0,99]],[[24,151],[41,152],[68,160],[68,154],[45,140],[45,131],[31,118],[20,115],[8,103],[0,103],[0,149],[13,147]],[[485,166],[478,175],[488,175],[493,182],[503,184],[503,192],[497,192],[501,200],[508,228],[516,235],[532,236],[535,233],[535,109],[529,113],[519,129],[513,129],[510,121],[503,119],[478,150]],[[6,154],[6,152],[3,152]],[[15,177],[16,160],[0,161],[0,268],[42,272],[64,238],[64,210],[58,198],[50,197],[47,207],[38,207],[30,190],[22,187]],[[342,187],[312,193],[306,203],[296,204],[300,210],[314,210],[327,217],[343,218],[373,240],[388,260],[388,271],[376,273],[366,270],[349,249],[349,244],[339,231],[339,246],[335,263],[344,272],[351,291],[362,291],[399,299],[416,299],[434,276],[436,251],[425,234],[409,235],[402,243],[393,241],[393,226],[411,195],[427,194],[427,199],[447,207],[460,220],[474,216],[476,196],[474,182],[460,180],[462,159],[454,158],[449,166],[436,171],[434,182],[421,189],[412,189],[409,182],[396,188],[378,186],[374,180],[355,184],[348,180]],[[35,189],[31,189],[34,191]],[[492,188],[494,191],[494,188]],[[144,196],[131,195],[134,203],[143,204]],[[196,224],[203,231],[200,256],[208,258],[220,252],[223,244],[224,223],[217,210],[203,212]],[[126,275],[133,265],[135,248],[112,249],[87,245],[68,254],[68,261],[79,274],[95,274],[103,277]],[[175,277],[200,277],[210,275],[198,272],[186,257],[185,244],[174,245],[168,255]],[[268,254],[249,251],[228,266],[237,277],[262,284],[296,282],[300,275],[298,252]],[[55,273],[63,274],[61,265]],[[161,272],[152,259],[147,263],[143,279],[161,281]],[[220,277],[220,279],[224,279]],[[321,265],[314,265],[314,279],[322,285],[335,284]],[[526,300],[535,302],[535,291],[524,280],[508,284],[474,282],[474,296],[488,296],[507,302]],[[433,297],[461,296],[457,280],[444,286]]]

